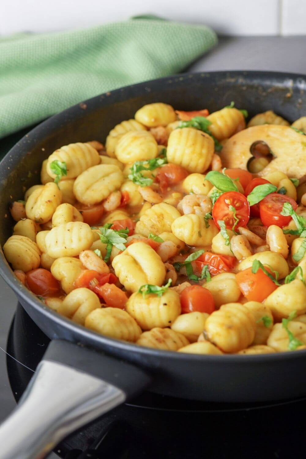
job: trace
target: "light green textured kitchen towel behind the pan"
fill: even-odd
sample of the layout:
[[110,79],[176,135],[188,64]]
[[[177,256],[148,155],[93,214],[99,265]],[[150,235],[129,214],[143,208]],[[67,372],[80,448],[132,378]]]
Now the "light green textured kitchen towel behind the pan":
[[211,28],[139,17],[0,39],[0,138],[103,92],[184,70],[217,44]]

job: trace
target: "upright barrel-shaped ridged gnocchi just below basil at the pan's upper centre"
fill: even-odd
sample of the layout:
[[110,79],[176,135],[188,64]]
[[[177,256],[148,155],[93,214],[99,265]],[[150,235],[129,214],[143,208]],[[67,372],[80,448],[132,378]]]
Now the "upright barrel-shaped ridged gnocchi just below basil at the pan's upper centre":
[[188,172],[202,174],[208,169],[214,153],[211,136],[198,129],[174,129],[168,139],[167,160]]

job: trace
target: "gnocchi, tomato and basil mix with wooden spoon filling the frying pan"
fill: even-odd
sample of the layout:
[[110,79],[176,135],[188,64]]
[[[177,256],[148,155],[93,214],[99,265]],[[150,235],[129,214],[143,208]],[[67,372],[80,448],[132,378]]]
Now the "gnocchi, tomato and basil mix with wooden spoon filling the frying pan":
[[246,128],[233,102],[186,113],[148,104],[106,139],[43,158],[10,206],[17,282],[137,346],[306,349],[306,117],[289,127],[267,111]]

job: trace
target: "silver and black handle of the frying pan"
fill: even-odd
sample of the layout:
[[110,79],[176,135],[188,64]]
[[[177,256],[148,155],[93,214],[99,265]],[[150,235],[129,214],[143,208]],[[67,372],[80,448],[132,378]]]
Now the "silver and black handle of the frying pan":
[[1,459],[44,458],[68,434],[149,383],[132,364],[68,341],[51,341],[16,409],[0,426]]

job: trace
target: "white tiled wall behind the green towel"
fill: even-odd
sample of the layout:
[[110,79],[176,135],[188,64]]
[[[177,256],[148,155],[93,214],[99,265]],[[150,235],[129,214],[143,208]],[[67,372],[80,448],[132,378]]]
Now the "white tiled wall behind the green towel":
[[0,0],[0,35],[87,28],[151,13],[222,35],[306,35],[306,0]]

